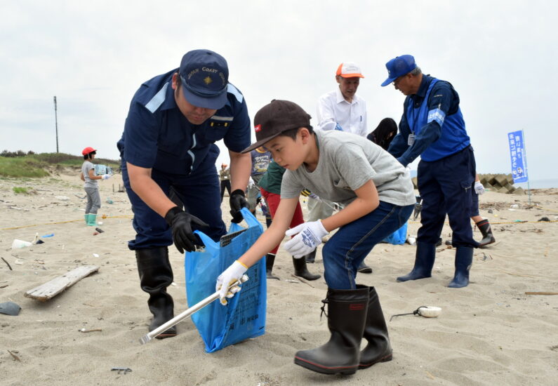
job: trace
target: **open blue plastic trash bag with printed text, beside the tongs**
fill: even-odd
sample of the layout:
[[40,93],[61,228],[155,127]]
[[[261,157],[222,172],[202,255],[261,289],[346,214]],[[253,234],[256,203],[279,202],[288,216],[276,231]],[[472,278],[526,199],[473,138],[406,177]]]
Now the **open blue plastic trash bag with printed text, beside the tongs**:
[[[232,223],[229,233],[220,242],[216,243],[203,232],[195,232],[204,242],[205,251],[187,252],[185,255],[188,307],[215,293],[217,277],[263,233],[262,225],[248,209],[242,208],[241,212],[248,228]],[[236,232],[241,233],[232,239],[228,236]],[[250,267],[246,274],[248,281],[242,284],[242,291],[234,295],[227,306],[215,300],[192,315],[192,321],[204,340],[206,352],[221,350],[265,333],[265,259]]]

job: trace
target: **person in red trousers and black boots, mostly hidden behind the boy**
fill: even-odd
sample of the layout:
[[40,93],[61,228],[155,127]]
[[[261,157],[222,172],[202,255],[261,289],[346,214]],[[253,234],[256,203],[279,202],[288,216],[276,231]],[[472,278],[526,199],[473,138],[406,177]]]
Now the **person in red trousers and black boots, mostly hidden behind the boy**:
[[[260,180],[260,191],[262,192],[262,197],[267,202],[267,208],[270,211],[271,218],[273,219],[275,212],[277,212],[277,207],[279,206],[279,201],[281,201],[281,181],[283,180],[283,174],[286,169],[279,166],[277,162],[272,161],[267,171]],[[296,205],[295,213],[293,215],[293,220],[291,220],[291,225],[289,227],[294,228],[298,225],[304,223],[303,209],[300,207],[300,202]],[[267,225],[269,228],[271,223]],[[270,253],[265,255],[265,272],[267,274],[267,279],[279,279],[272,274],[273,265],[275,262],[275,255],[277,255],[277,250],[279,249],[279,244],[273,248]],[[315,253],[314,253],[315,255]],[[293,266],[295,267],[295,276],[302,277],[307,280],[316,280],[321,276],[319,274],[312,274],[308,271],[306,266],[306,256],[302,258],[295,258],[293,256]]]

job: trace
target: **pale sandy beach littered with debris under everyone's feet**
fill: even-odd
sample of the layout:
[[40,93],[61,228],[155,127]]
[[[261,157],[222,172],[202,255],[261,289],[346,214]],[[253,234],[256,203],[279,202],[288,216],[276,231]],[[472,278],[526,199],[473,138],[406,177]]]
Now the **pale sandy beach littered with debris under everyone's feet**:
[[[0,256],[13,269],[0,260],[0,302],[22,308],[15,317],[0,314],[1,385],[558,384],[558,295],[526,294],[558,291],[558,189],[533,191],[531,204],[527,195],[480,197],[497,242],[475,250],[466,288],[446,287],[455,251],[445,244],[437,249],[432,278],[406,283],[395,278],[412,268],[415,246],[376,246],[366,258],[373,274],[359,274],[357,281],[376,286],[386,319],[421,305],[442,313],[388,321],[394,359],[344,377],[293,364],[297,350],[328,340],[326,318],[319,317],[326,284],[323,277],[311,286],[291,282],[291,257],[282,248],[274,268],[281,281],[267,282],[265,335],[207,354],[187,319],[177,337],[140,345],[151,314],[127,247],[134,236],[128,197],[113,192],[121,176],[100,182],[99,214],[106,218],[98,220],[105,232],[93,235],[95,228],[84,224],[78,175],[0,180]],[[36,194],[14,194],[13,187],[32,187]],[[222,209],[228,213],[226,198]],[[538,221],[544,217],[550,222]],[[419,226],[411,221],[409,233],[416,235]],[[445,225],[444,241],[450,232]],[[11,249],[13,239],[32,241],[36,233],[54,236]],[[481,238],[478,229],[474,236]],[[184,258],[173,246],[169,251],[175,285],[168,291],[178,314],[187,309]],[[25,298],[26,291],[81,265],[100,269],[47,302]],[[323,275],[320,253],[309,269]],[[132,371],[118,374],[113,367]]]

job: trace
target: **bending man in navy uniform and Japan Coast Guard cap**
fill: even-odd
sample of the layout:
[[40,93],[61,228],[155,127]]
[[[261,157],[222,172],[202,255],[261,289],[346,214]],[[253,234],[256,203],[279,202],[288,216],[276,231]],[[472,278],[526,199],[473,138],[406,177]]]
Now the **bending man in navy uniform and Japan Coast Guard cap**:
[[[117,146],[122,176],[134,213],[135,251],[140,286],[153,320],[150,331],[173,318],[173,282],[168,246],[180,253],[201,243],[193,234],[203,228],[217,241],[226,233],[221,218],[215,160],[223,139],[230,154],[231,215],[242,220],[244,189],[251,170],[250,119],[241,92],[228,81],[227,61],[218,53],[195,50],[180,67],[146,81],[133,96],[124,133]],[[168,199],[178,194],[184,208]],[[157,336],[176,335],[175,327]]]

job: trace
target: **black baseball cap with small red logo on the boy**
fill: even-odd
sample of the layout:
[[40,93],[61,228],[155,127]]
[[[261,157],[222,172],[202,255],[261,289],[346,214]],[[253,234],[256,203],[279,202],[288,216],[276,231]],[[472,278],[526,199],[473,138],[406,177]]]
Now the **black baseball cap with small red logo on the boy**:
[[274,99],[255,113],[254,130],[256,142],[241,153],[251,152],[291,128],[311,127],[310,114],[295,102]]

